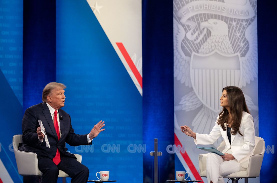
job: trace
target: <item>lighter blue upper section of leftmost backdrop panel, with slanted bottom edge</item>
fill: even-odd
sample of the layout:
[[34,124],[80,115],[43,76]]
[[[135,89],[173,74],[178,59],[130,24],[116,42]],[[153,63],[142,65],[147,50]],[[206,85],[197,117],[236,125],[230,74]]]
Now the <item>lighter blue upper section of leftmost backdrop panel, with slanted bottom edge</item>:
[[23,1],[0,1],[0,68],[22,105]]

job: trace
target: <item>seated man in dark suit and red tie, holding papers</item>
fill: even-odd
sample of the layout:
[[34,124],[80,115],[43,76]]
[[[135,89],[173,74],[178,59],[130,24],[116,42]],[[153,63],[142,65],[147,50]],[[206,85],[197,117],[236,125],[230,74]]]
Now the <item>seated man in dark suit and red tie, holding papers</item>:
[[[43,173],[42,182],[57,182],[59,169],[71,177],[71,182],[87,182],[89,170],[68,153],[65,143],[71,146],[91,145],[91,141],[105,126],[99,121],[86,135],[74,133],[70,115],[60,109],[65,105],[62,83],[48,83],[42,92],[43,103],[26,109],[22,119],[22,140],[20,151],[34,152],[38,157],[39,170]],[[42,121],[50,148],[46,146],[38,120]]]

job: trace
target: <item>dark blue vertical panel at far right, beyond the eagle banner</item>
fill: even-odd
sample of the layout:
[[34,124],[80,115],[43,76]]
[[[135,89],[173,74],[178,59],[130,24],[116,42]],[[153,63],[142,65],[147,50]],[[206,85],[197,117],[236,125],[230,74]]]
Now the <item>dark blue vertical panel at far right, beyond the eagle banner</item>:
[[260,182],[277,182],[277,37],[275,1],[258,3],[258,83],[259,83],[259,136],[265,140],[265,155]]

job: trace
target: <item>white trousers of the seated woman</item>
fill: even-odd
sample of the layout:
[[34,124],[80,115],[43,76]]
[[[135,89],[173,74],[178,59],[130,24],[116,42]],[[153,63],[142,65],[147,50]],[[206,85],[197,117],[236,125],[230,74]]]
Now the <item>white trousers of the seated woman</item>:
[[[231,154],[231,152],[227,153]],[[243,170],[246,170],[246,168],[243,168],[236,159],[225,161],[221,156],[215,153],[210,153],[207,156],[206,174],[208,183],[211,181],[214,183],[224,183],[224,176]]]

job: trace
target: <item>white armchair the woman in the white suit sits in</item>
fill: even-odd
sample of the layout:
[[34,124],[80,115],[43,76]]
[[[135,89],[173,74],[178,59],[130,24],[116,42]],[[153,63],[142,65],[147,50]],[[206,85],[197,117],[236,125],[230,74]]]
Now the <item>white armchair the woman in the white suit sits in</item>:
[[[223,151],[225,141],[222,141],[217,150]],[[232,179],[233,183],[237,183],[239,179],[245,178],[245,182],[248,182],[248,178],[258,177],[261,170],[261,164],[263,161],[263,155],[265,154],[265,141],[263,138],[255,136],[254,154],[250,156],[248,167],[245,171],[239,171],[227,175],[223,178]],[[199,154],[199,174],[201,177],[206,177],[206,158],[208,154]]]

